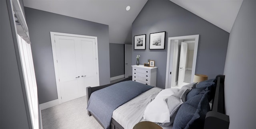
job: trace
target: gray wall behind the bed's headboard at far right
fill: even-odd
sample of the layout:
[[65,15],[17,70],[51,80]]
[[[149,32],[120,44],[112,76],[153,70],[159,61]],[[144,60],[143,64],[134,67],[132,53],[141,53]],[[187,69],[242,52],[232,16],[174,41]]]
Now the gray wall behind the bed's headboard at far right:
[[244,0],[230,32],[224,68],[230,129],[256,129],[255,7],[255,0]]

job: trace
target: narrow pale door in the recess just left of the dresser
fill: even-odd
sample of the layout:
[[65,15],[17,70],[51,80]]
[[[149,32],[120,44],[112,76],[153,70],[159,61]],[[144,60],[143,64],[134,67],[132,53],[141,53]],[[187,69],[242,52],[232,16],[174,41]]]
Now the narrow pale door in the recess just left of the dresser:
[[132,45],[124,45],[125,78],[132,76]]

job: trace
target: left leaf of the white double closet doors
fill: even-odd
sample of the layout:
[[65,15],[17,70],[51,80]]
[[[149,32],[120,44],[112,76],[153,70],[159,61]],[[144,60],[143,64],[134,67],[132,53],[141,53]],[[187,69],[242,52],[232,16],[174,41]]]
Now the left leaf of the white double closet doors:
[[56,56],[62,102],[78,98],[76,38],[55,35]]

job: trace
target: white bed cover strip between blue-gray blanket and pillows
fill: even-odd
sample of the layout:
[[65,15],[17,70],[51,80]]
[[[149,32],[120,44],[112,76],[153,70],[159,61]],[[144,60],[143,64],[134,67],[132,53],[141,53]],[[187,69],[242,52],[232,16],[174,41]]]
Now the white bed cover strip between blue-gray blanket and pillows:
[[122,125],[124,129],[132,129],[142,119],[147,105],[154,100],[161,90],[160,88],[152,88],[142,93],[115,109],[112,118]]

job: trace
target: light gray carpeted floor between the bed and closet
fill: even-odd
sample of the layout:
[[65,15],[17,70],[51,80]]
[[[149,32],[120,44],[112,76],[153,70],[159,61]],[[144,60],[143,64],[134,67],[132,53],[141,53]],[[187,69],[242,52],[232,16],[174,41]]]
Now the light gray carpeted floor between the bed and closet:
[[103,129],[87,114],[86,96],[42,110],[43,129]]

